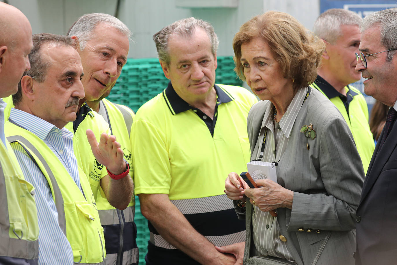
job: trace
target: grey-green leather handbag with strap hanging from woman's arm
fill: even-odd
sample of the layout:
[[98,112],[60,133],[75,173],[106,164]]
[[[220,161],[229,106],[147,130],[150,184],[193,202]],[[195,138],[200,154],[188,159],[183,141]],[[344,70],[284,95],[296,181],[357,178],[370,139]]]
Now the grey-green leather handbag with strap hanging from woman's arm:
[[[247,201],[246,205],[246,212],[245,212],[245,228],[246,228],[246,236],[245,236],[245,248],[244,248],[244,258],[243,258],[243,265],[297,265],[295,262],[287,261],[286,259],[281,259],[278,257],[272,256],[252,256],[252,253],[255,251],[255,245],[251,238],[252,235],[252,204]],[[321,255],[322,250],[324,249],[325,245],[327,244],[328,238],[330,238],[331,232],[328,232],[327,236],[324,238],[320,249],[317,252],[316,257],[314,258],[311,265],[315,265],[318,258]]]

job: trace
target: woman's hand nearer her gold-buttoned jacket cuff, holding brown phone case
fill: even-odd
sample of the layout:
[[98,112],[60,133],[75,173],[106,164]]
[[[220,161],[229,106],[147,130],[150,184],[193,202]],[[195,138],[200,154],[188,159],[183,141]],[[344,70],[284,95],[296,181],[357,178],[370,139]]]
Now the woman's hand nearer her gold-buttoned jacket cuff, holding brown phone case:
[[268,212],[282,207],[292,209],[293,191],[287,190],[269,179],[256,180],[255,183],[262,187],[247,188],[244,190],[244,194],[250,198],[251,203],[255,201],[261,211]]

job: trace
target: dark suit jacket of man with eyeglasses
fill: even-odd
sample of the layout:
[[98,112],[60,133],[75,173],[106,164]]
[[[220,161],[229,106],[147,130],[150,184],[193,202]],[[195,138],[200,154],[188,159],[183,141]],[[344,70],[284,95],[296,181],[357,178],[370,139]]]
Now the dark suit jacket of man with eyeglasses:
[[[382,131],[380,138],[384,131]],[[357,208],[356,264],[397,264],[397,124],[376,145]]]

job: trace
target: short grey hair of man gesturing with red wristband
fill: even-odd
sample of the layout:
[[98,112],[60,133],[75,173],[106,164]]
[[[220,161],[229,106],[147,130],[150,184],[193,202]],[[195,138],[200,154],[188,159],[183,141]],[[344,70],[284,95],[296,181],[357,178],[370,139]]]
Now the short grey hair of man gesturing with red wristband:
[[79,38],[80,50],[84,50],[87,41],[93,38],[92,33],[95,27],[100,23],[114,27],[122,34],[127,36],[129,40],[131,40],[131,31],[128,29],[128,27],[117,17],[104,13],[91,13],[82,15],[70,27],[69,31],[67,31],[67,35],[69,35],[69,37],[76,36]]

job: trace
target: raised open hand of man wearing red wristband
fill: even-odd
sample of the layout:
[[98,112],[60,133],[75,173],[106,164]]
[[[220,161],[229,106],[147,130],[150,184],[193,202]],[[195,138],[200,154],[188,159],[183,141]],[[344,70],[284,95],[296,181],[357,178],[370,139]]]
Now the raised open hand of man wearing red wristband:
[[121,145],[116,141],[116,136],[102,133],[98,143],[92,130],[88,129],[86,134],[96,160],[115,175],[123,173],[125,171],[124,153],[120,148]]

